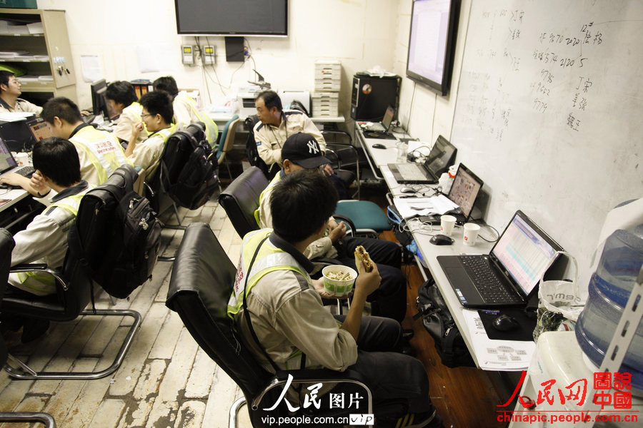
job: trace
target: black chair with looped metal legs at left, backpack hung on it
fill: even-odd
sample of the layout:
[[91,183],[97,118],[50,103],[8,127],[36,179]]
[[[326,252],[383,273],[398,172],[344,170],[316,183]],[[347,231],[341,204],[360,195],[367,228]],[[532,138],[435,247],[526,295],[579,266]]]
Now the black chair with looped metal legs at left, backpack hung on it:
[[[126,178],[123,175],[114,173],[109,177],[105,184],[126,185],[124,184],[126,182],[129,183],[127,185],[129,185],[129,188],[131,189],[133,177],[135,177],[133,168],[130,166],[121,168],[131,170],[132,175],[129,175],[129,178]],[[119,168],[119,170],[121,168]],[[100,188],[101,186],[98,187],[98,189]],[[88,215],[93,215],[94,218],[81,219],[81,212],[79,212],[77,221],[81,222],[81,220],[83,220],[83,223],[91,223],[92,221],[98,222],[97,228],[103,230],[114,230],[114,228],[119,226],[114,222],[113,218],[108,219],[91,210],[87,210],[86,213],[89,213]],[[123,227],[122,223],[120,227]],[[49,273],[49,275],[56,279],[56,294],[43,297],[26,295],[27,293],[15,296],[4,296],[0,307],[1,312],[3,314],[17,315],[19,317],[31,317],[56,322],[76,320],[76,318],[81,315],[127,316],[132,317],[134,322],[131,327],[129,327],[129,331],[121,344],[119,352],[117,352],[116,357],[114,357],[114,361],[104,370],[97,370],[95,372],[36,372],[24,364],[24,362],[21,362],[15,357],[9,355],[9,359],[19,366],[19,368],[14,368],[9,365],[5,367],[6,372],[8,372],[9,376],[14,379],[99,379],[101,377],[106,377],[115,372],[121,365],[121,362],[123,361],[127,350],[129,350],[134,338],[134,333],[138,330],[139,325],[141,325],[141,314],[135,310],[96,309],[93,307],[94,285],[89,277],[88,267],[100,264],[96,261],[96,258],[104,258],[104,251],[106,248],[109,248],[109,242],[101,240],[101,244],[104,245],[102,248],[103,250],[101,251],[100,248],[96,250],[96,245],[93,245],[95,243],[91,242],[92,240],[89,239],[86,234],[82,233],[82,230],[79,230],[79,239],[79,253],[67,250],[61,270],[53,270],[46,265],[33,264],[17,265],[11,268],[11,272]],[[70,245],[72,245],[71,240],[69,242]],[[11,245],[11,248],[6,248],[4,245],[0,246],[0,256],[3,258],[9,257],[9,260],[11,260],[10,254],[12,248],[13,245]],[[88,249],[91,248],[94,248],[94,250],[89,251]],[[81,260],[81,258],[83,260]],[[110,271],[109,267],[104,267],[104,269],[106,272]],[[6,281],[2,283],[6,283]],[[87,307],[90,302],[92,303],[92,309],[85,310],[85,307]]]

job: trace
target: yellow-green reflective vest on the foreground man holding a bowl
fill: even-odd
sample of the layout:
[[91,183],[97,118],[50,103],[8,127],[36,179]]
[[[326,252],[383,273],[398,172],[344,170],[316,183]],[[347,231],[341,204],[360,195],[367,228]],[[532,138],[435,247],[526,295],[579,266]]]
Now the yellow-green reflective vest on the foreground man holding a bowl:
[[286,253],[284,250],[281,250],[281,248],[276,248],[269,240],[266,240],[261,244],[259,253],[257,253],[254,263],[250,267],[250,272],[248,272],[249,264],[257,246],[259,246],[261,240],[271,233],[271,229],[255,230],[254,232],[248,233],[244,238],[244,244],[241,250],[241,260],[239,260],[239,266],[236,269],[234,288],[232,289],[232,295],[228,301],[227,312],[229,317],[233,320],[234,315],[238,314],[241,307],[244,305],[243,292],[246,285],[246,276],[248,276],[248,291],[246,292],[246,296],[251,292],[252,287],[254,287],[254,285],[264,277],[264,275],[276,270],[292,270],[297,272],[306,278],[306,281],[311,285],[310,275],[308,275],[308,272],[301,270],[299,263],[296,262],[294,257],[289,253]]

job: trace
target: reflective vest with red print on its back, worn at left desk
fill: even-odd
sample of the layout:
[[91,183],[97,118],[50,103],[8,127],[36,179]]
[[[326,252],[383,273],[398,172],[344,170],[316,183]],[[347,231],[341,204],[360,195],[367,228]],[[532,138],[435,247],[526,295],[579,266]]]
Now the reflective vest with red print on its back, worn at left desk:
[[[87,177],[82,177],[83,180],[89,181],[90,184],[105,183],[109,175],[119,166],[125,163],[133,165],[125,157],[125,151],[116,137],[91,126],[81,128],[73,137],[69,138],[69,141],[74,143],[77,151],[84,153],[91,165],[94,165],[96,169],[98,183],[94,183],[95,180],[91,180],[91,178],[87,180]],[[81,165],[81,169],[83,167],[84,165]]]

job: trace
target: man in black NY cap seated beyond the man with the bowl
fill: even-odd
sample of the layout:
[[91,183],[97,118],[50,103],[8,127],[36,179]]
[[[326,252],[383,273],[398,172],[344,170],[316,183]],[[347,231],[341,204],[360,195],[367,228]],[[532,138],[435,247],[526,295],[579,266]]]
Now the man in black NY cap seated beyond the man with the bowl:
[[[259,197],[259,208],[255,212],[255,218],[261,228],[274,227],[275,213],[271,210],[270,195],[280,180],[297,170],[319,170],[329,162],[327,158],[321,156],[319,144],[315,138],[306,133],[289,136],[281,148],[281,155],[284,158],[284,168],[274,176]],[[399,245],[387,240],[345,238],[345,236],[346,225],[344,223],[338,225],[330,218],[328,235],[314,240],[304,250],[304,255],[309,259],[334,258],[342,265],[357,270],[353,253],[357,245],[363,245],[372,260],[378,264],[379,273],[382,275],[382,285],[379,290],[369,295],[372,315],[389,317],[402,322],[407,313],[407,279],[400,270],[402,251]],[[321,275],[321,272],[318,275]]]

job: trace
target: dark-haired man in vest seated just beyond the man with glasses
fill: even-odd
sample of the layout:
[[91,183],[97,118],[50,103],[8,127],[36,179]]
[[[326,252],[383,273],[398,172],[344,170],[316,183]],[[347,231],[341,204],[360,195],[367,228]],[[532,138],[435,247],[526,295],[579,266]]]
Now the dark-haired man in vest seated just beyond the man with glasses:
[[[131,138],[131,127],[134,123],[141,123],[141,112],[143,106],[137,102],[136,91],[134,86],[126,81],[115,81],[109,83],[105,92],[105,98],[116,113],[120,113],[119,121],[112,132],[121,143],[129,143]],[[136,142],[141,143],[147,139],[148,132],[144,127],[139,135],[136,136]],[[124,146],[126,147],[126,145]]]

